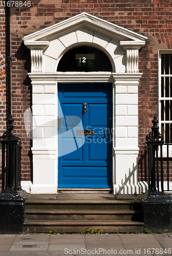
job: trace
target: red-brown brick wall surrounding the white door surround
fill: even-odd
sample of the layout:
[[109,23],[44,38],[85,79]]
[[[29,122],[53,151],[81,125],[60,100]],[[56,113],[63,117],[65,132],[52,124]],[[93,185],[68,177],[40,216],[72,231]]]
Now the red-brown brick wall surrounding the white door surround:
[[[23,116],[24,111],[32,105],[31,84],[27,77],[27,72],[30,71],[30,52],[23,45],[22,37],[81,12],[88,12],[148,37],[146,45],[139,54],[139,72],[143,72],[139,85],[139,179],[144,178],[145,136],[150,131],[153,116],[155,114],[158,116],[158,50],[172,48],[172,3],[170,0],[34,0],[31,2],[31,8],[11,8],[12,114],[15,120],[14,132],[22,138],[22,178],[30,179],[32,173],[31,141],[25,133]],[[1,15],[3,16],[2,13]],[[2,22],[0,26],[2,42],[5,33]],[[1,52],[0,62],[4,61],[4,44]],[[0,74],[1,72],[5,72],[5,66],[0,67]],[[5,93],[3,87],[5,74],[2,74],[1,93]],[[5,95],[2,94],[2,97],[0,111],[5,107]],[[0,115],[0,118],[1,125],[4,125],[4,117]]]

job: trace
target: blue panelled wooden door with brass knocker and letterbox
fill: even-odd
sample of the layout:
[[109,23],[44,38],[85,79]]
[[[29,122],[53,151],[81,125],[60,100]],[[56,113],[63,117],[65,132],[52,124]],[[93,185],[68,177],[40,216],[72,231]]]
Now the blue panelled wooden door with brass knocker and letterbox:
[[59,84],[58,116],[58,187],[111,188],[112,84]]

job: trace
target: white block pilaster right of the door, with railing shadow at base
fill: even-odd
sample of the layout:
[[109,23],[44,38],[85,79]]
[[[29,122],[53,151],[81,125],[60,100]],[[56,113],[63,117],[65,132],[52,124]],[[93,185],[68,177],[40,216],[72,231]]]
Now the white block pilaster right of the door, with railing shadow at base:
[[141,73],[113,73],[115,80],[114,194],[141,193],[138,183],[138,84]]

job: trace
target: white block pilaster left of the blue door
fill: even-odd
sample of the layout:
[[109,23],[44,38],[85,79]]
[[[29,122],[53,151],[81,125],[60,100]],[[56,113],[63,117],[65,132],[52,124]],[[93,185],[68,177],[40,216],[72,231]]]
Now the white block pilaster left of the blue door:
[[32,79],[32,194],[57,193],[57,83]]

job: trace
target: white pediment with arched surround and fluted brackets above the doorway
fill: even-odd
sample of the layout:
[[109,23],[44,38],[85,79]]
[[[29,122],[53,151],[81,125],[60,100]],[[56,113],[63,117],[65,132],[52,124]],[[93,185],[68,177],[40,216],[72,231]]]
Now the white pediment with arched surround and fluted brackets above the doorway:
[[63,54],[79,46],[103,51],[113,71],[138,72],[138,50],[147,37],[124,29],[88,13],[81,13],[63,22],[39,30],[23,38],[31,50],[32,73],[56,72]]

